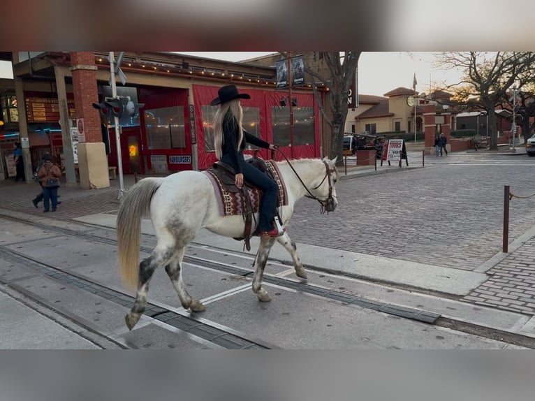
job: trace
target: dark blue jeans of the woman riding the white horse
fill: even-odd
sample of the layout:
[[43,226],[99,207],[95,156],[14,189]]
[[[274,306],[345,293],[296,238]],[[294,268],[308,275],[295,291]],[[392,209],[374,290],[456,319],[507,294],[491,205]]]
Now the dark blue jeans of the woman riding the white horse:
[[[277,209],[277,182],[274,182],[268,175],[265,175],[258,170],[258,168],[246,163],[243,154],[237,155],[238,163],[242,168],[243,178],[260,188],[263,192],[260,201],[260,210],[258,211],[258,231],[271,231],[273,227],[273,220],[275,211]],[[223,156],[221,159],[223,163],[228,164],[235,169],[232,160],[228,156]]]

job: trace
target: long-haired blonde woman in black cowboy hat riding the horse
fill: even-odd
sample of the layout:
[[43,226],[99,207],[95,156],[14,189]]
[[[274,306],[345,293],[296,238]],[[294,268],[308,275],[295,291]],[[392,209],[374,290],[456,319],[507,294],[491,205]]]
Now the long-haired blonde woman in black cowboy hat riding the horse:
[[277,210],[277,183],[261,170],[245,162],[243,151],[247,143],[274,150],[274,145],[256,138],[243,129],[243,109],[240,99],[251,99],[249,94],[240,94],[235,85],[219,89],[218,97],[210,105],[219,105],[214,120],[214,147],[219,161],[228,164],[235,172],[235,184],[243,186],[244,180],[251,182],[263,191],[258,216],[259,235],[276,237],[279,234],[274,226]]

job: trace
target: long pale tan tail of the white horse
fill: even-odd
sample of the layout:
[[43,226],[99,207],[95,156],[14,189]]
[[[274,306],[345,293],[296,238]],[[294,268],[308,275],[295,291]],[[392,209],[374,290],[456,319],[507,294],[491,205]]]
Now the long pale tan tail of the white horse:
[[135,184],[124,196],[117,214],[117,258],[123,283],[129,289],[138,285],[138,262],[141,218],[149,213],[152,196],[163,178],[147,177]]

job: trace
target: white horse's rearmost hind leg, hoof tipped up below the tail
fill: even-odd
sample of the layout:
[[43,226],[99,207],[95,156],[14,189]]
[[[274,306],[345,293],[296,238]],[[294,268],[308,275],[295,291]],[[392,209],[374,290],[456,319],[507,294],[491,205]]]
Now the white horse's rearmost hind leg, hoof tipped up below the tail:
[[133,307],[124,317],[126,326],[129,328],[129,330],[132,330],[135,324],[138,323],[143,312],[145,312],[145,307],[147,307],[147,296],[149,293],[149,282],[154,274],[154,270],[156,270],[156,268],[158,268],[158,266],[162,263],[168,261],[172,254],[172,249],[159,251],[156,247],[156,249],[154,249],[152,252],[152,255],[143,259],[139,264],[138,291],[135,294]]

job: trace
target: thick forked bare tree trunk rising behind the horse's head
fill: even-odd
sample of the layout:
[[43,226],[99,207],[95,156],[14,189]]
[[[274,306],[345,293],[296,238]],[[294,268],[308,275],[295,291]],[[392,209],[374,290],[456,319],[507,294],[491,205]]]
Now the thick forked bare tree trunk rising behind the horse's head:
[[[309,66],[305,66],[305,72],[316,78],[319,82],[325,83],[329,88],[329,107],[330,115],[325,112],[325,107],[317,96],[316,85],[314,85],[314,96],[318,100],[318,105],[325,118],[325,122],[330,126],[331,141],[329,158],[338,157],[342,162],[342,145],[344,143],[344,127],[348,112],[348,99],[351,89],[351,83],[355,78],[358,59],[361,52],[321,52],[325,64],[329,69],[328,77],[325,77],[322,71],[316,71]],[[285,52],[280,52],[284,57],[288,57]],[[326,82],[325,82],[326,80]],[[356,96],[356,94],[353,94]]]

